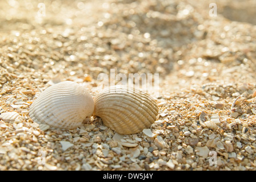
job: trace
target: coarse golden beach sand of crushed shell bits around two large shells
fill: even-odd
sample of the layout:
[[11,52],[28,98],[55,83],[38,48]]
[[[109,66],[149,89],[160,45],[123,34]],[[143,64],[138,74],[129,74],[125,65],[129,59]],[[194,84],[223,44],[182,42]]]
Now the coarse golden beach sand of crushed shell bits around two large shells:
[[[0,170],[255,171],[255,15],[254,0],[0,1]],[[159,82],[149,129],[30,118],[49,86],[95,97],[113,71]]]

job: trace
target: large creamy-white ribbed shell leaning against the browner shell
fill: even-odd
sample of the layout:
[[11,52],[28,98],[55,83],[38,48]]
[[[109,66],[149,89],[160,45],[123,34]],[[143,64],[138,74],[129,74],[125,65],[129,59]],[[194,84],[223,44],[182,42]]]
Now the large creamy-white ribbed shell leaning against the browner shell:
[[45,89],[30,106],[34,122],[61,129],[75,129],[93,114],[94,101],[83,86],[63,81]]

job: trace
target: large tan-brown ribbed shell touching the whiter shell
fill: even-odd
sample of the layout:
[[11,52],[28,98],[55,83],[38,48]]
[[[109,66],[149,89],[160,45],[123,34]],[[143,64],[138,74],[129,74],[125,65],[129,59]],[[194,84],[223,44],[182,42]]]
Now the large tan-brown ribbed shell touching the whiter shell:
[[94,98],[94,115],[119,134],[134,134],[149,128],[158,115],[157,103],[141,90],[115,85]]

